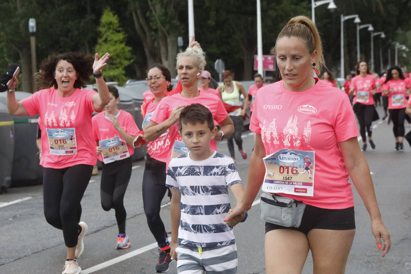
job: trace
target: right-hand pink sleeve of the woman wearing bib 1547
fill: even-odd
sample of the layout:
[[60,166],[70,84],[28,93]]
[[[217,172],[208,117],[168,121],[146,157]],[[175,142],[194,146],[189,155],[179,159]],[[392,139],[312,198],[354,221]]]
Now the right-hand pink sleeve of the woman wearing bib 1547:
[[356,118],[348,96],[342,98],[335,114],[334,131],[337,141],[342,142],[358,136]]

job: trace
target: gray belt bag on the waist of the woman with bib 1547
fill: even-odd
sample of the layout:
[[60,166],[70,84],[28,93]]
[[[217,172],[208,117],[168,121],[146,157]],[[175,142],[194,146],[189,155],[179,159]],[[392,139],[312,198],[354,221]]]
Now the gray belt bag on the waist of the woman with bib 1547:
[[261,193],[260,217],[268,223],[298,228],[304,210],[305,204],[302,201],[278,196],[275,193]]

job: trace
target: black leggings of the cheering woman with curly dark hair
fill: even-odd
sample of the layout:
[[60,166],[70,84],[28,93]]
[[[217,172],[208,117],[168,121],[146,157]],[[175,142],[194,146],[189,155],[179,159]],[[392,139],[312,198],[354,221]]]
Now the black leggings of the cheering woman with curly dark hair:
[[44,168],[43,200],[46,221],[63,230],[67,247],[77,245],[81,217],[81,198],[91,178],[93,166]]

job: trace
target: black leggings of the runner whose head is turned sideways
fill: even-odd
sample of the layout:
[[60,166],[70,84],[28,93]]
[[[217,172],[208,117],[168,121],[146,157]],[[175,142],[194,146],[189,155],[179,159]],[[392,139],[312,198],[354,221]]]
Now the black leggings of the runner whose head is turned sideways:
[[123,200],[130,181],[132,167],[131,157],[111,163],[102,163],[100,183],[102,207],[105,211],[114,208],[119,234],[126,233],[127,212]]

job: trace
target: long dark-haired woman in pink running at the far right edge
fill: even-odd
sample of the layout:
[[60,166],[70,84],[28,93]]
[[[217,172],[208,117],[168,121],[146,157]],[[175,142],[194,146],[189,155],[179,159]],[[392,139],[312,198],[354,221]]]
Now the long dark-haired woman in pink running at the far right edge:
[[404,150],[406,94],[409,94],[410,85],[398,66],[388,69],[383,91],[384,96],[388,97],[388,110],[390,111],[390,119],[393,121],[395,150]]

